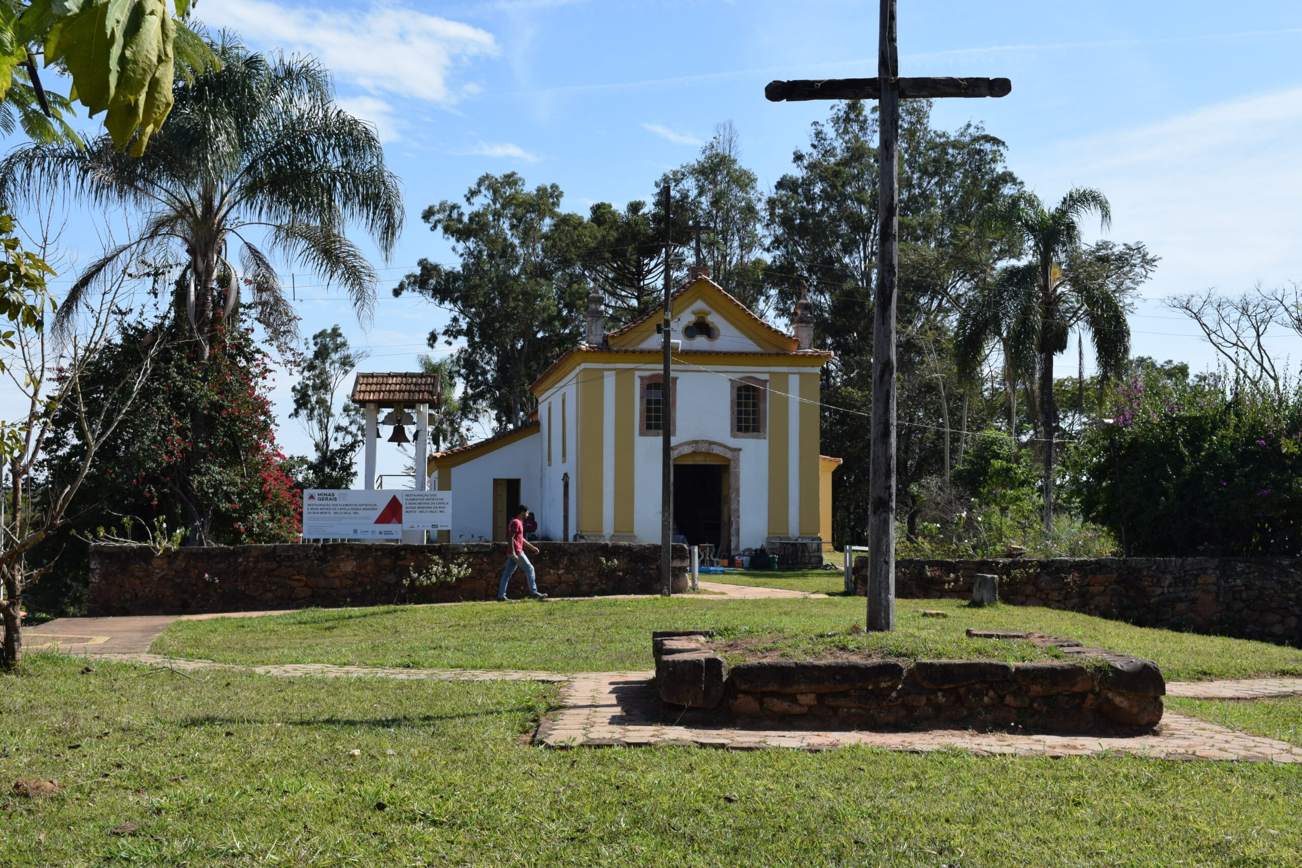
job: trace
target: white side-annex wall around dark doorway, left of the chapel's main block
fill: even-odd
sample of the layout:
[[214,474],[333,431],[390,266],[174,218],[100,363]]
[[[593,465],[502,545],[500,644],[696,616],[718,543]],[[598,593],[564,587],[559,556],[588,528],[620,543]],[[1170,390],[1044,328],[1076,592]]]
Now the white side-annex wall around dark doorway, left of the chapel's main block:
[[546,454],[538,432],[452,468],[452,541],[492,540],[492,480],[518,479],[519,500],[542,519],[539,467]]

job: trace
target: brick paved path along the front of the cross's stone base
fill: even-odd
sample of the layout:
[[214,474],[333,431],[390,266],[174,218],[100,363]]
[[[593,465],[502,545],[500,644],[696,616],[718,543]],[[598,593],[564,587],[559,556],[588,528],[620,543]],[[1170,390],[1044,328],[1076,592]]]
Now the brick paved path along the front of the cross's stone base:
[[1168,760],[1241,760],[1302,763],[1302,747],[1236,733],[1184,714],[1167,713],[1160,734],[1129,738],[1096,735],[1005,735],[967,730],[915,733],[811,733],[676,726],[660,720],[660,703],[648,679],[652,673],[574,675],[561,696],[562,708],[548,716],[536,740],[548,747],[641,747],[685,744],[758,750],[790,747],[820,751],[870,744],[892,751],[927,752],[961,748],[976,755],[1017,756],[1135,753]]

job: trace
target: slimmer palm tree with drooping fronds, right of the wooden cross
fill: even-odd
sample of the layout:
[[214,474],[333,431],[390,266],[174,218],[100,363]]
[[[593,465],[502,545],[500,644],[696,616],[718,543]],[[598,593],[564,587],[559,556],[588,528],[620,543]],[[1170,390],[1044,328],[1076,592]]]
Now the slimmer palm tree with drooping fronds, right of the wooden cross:
[[[1044,462],[1044,531],[1053,530],[1053,445],[1057,432],[1057,406],[1053,401],[1053,357],[1066,350],[1072,327],[1082,324],[1094,342],[1099,373],[1108,379],[1130,354],[1130,327],[1126,323],[1124,293],[1128,285],[1109,280],[1107,269],[1095,268],[1092,258],[1082,255],[1081,221],[1098,213],[1100,225],[1112,223],[1108,199],[1092,187],[1075,187],[1052,208],[1027,190],[1021,190],[993,206],[982,223],[1018,238],[1030,254],[1022,267],[1006,269],[1003,290],[1017,310],[1021,324],[1014,333],[1034,336],[1039,367],[1039,437]],[[1019,292],[1018,292],[1019,290]],[[1022,294],[1022,301],[1016,295]],[[1035,303],[1026,303],[1025,298]],[[980,294],[976,295],[976,301]],[[974,320],[978,318],[973,318]],[[1025,347],[1023,347],[1025,349]],[[1017,357],[1021,350],[1013,350]]]

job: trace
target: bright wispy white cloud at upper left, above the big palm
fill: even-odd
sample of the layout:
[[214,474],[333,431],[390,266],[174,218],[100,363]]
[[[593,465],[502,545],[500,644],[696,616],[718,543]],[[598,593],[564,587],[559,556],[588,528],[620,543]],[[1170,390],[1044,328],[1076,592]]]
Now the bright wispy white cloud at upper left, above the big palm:
[[449,82],[453,66],[499,52],[486,30],[383,0],[331,9],[221,0],[201,12],[204,23],[229,27],[256,48],[320,60],[339,82],[371,95],[352,104],[389,138],[397,135],[398,121],[385,98],[452,105],[471,90]]

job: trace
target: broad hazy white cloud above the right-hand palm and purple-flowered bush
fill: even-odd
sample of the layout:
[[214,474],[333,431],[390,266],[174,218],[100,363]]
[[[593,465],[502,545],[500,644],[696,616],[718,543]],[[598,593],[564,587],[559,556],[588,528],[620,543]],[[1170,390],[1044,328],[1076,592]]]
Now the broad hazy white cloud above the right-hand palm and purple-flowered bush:
[[[1042,197],[1099,187],[1116,241],[1143,241],[1161,262],[1131,320],[1134,353],[1216,362],[1191,323],[1156,299],[1208,288],[1237,295],[1260,281],[1302,280],[1302,87],[1204,105],[1129,130],[1046,147],[1014,169]],[[1091,234],[1098,224],[1090,225]],[[1302,355],[1280,333],[1272,349]]]

